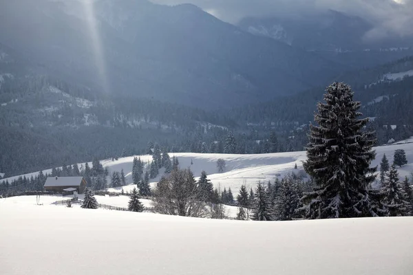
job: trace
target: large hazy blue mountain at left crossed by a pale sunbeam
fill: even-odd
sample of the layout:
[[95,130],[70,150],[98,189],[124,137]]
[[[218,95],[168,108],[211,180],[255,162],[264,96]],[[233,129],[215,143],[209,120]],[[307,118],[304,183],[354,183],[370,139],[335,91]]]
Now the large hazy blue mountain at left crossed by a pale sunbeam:
[[2,1],[0,24],[8,26],[0,30],[0,43],[41,66],[41,74],[106,94],[204,109],[295,94],[343,72],[334,62],[253,36],[194,5]]

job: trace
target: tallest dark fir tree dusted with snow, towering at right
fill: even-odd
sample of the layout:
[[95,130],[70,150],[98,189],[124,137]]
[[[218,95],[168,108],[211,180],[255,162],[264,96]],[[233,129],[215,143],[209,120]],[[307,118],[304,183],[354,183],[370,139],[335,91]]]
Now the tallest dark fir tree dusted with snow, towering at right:
[[310,219],[375,216],[368,186],[374,181],[374,132],[363,132],[368,118],[359,119],[360,102],[344,83],[333,83],[317,104],[317,125],[310,126],[306,172],[317,187],[304,196]]

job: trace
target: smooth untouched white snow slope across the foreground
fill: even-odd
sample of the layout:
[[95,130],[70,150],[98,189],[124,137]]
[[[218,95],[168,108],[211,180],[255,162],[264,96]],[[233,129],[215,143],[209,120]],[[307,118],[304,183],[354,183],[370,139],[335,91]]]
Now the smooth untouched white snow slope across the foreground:
[[0,201],[1,274],[413,272],[413,218],[255,222]]

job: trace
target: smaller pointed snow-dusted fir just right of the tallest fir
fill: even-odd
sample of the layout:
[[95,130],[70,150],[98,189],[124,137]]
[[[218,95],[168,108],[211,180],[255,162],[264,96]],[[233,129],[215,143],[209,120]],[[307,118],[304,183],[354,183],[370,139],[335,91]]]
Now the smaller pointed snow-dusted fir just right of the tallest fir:
[[399,181],[399,173],[397,173],[394,164],[390,166],[388,179],[384,182],[383,192],[385,194],[383,204],[388,208],[389,216],[406,216],[409,212],[410,203],[406,201],[406,194]]

